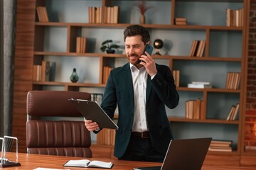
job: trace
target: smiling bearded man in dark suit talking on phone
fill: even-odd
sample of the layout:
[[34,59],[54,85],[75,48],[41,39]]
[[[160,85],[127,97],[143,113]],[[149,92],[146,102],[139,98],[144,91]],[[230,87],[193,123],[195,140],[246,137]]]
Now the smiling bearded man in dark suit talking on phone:
[[[118,106],[114,156],[118,159],[163,162],[171,135],[165,106],[175,108],[179,96],[169,67],[156,64],[146,52],[149,31],[138,25],[124,30],[129,62],[113,69],[107,80],[101,107],[113,118]],[[85,127],[100,132],[97,123],[85,120]]]

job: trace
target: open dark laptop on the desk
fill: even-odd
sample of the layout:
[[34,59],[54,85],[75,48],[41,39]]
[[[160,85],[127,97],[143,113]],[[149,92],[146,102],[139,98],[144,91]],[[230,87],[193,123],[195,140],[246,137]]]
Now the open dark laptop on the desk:
[[137,167],[134,170],[200,170],[212,138],[171,140],[161,166]]

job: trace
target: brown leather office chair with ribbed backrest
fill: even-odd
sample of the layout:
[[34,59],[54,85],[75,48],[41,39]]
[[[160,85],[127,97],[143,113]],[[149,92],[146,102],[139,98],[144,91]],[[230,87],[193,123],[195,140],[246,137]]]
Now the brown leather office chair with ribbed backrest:
[[67,120],[68,117],[81,117],[68,98],[90,100],[91,95],[77,91],[28,91],[28,153],[92,157],[90,132],[84,122]]

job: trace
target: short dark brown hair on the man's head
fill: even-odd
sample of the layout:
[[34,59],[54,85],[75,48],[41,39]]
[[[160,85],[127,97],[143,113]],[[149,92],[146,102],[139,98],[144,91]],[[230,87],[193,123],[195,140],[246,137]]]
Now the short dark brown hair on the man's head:
[[132,25],[128,26],[124,30],[124,42],[127,37],[132,37],[135,35],[142,35],[142,41],[144,42],[144,44],[146,44],[146,42],[149,42],[150,40],[149,30],[147,30],[143,26]]

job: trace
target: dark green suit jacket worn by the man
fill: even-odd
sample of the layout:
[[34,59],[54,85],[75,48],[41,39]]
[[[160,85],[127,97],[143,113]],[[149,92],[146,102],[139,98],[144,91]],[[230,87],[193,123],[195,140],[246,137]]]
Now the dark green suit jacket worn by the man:
[[[175,108],[179,96],[169,67],[156,64],[156,69],[156,76],[152,80],[149,76],[146,84],[146,121],[152,145],[158,152],[166,153],[172,135],[165,106]],[[119,158],[127,149],[134,120],[134,89],[129,63],[113,69],[107,80],[101,107],[113,118],[117,106],[119,129],[114,156]]]

